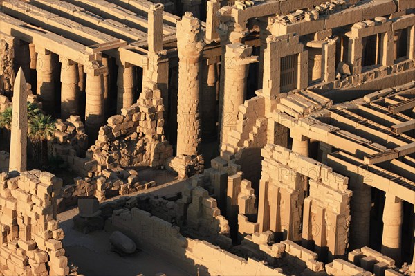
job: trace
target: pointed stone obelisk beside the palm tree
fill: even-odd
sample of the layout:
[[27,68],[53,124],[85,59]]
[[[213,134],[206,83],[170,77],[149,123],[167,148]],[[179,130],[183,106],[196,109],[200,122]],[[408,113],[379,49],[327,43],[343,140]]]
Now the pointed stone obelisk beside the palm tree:
[[9,172],[26,171],[28,147],[28,93],[23,70],[19,68],[13,91],[12,134]]

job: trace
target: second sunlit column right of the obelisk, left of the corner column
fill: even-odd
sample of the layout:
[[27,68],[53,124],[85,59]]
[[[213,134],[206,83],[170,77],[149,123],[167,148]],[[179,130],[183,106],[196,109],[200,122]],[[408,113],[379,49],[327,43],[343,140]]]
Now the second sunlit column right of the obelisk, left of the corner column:
[[78,68],[77,63],[66,57],[60,58],[61,67],[61,118],[66,120],[71,115],[79,115]]

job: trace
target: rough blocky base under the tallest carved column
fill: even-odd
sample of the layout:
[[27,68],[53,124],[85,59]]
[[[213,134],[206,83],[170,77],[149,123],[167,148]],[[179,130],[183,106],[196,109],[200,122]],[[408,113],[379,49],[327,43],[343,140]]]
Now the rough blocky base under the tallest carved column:
[[189,178],[195,174],[201,174],[205,167],[203,156],[190,156],[181,154],[166,160],[166,169],[176,172],[179,178]]

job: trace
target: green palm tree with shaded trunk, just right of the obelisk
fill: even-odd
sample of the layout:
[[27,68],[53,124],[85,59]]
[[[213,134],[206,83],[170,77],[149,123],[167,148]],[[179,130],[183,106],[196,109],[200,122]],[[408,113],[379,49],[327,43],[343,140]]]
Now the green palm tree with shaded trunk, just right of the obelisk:
[[33,158],[39,160],[42,167],[48,164],[48,139],[53,137],[55,128],[55,120],[43,113],[29,120],[28,138],[32,142]]

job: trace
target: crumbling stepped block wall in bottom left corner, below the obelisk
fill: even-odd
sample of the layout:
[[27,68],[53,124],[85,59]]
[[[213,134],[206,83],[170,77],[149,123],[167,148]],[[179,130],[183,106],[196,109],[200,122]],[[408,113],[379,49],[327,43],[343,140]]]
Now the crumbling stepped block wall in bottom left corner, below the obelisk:
[[56,218],[62,179],[48,172],[0,174],[0,275],[68,275]]

